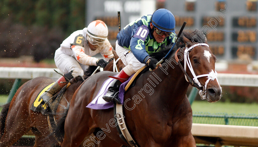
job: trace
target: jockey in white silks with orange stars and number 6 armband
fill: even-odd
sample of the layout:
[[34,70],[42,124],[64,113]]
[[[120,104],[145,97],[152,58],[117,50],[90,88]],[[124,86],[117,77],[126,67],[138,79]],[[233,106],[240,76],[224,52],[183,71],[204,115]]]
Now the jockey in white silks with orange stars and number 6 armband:
[[[83,76],[89,66],[104,68],[113,58],[112,46],[108,41],[108,27],[100,20],[91,22],[87,28],[73,32],[55,52],[57,68],[65,73],[40,98],[48,102],[50,97],[60,91],[73,77]],[[104,59],[91,56],[100,53]],[[63,83],[64,82],[64,83]]]

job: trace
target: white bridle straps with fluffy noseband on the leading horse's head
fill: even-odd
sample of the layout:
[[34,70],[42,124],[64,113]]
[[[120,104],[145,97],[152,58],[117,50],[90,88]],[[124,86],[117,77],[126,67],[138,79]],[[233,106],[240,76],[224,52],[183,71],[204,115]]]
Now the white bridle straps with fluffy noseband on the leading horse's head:
[[[195,45],[191,46],[190,48],[186,47],[185,54],[184,54],[184,60],[185,60],[185,62],[184,62],[184,63],[185,63],[185,64],[184,64],[184,69],[185,69],[185,71],[186,71],[186,64],[187,64],[188,68],[190,69],[190,71],[191,71],[191,73],[192,73],[192,75],[193,75],[193,81],[194,81],[195,83],[197,83],[200,87],[203,87],[203,86],[202,86],[201,83],[198,81],[198,78],[199,78],[199,77],[205,77],[205,76],[207,76],[208,79],[207,79],[207,81],[205,82],[204,91],[203,91],[203,90],[200,90],[200,91],[199,91],[199,94],[200,94],[200,96],[201,96],[201,99],[205,99],[205,98],[206,98],[206,92],[207,92],[207,85],[208,85],[209,81],[210,81],[210,80],[213,81],[213,80],[216,79],[217,82],[218,82],[217,72],[211,70],[211,72],[208,73],[208,74],[202,74],[202,75],[198,75],[198,76],[195,75],[195,73],[194,73],[194,71],[193,71],[193,67],[192,67],[191,61],[190,61],[190,58],[189,58],[189,51],[192,50],[195,46],[208,46],[208,47],[209,47],[209,45],[206,44],[206,43],[198,43],[198,44],[195,44]],[[185,75],[185,77],[186,77],[186,75]],[[188,81],[187,77],[186,77],[186,81]],[[218,82],[218,84],[219,84],[219,82]]]

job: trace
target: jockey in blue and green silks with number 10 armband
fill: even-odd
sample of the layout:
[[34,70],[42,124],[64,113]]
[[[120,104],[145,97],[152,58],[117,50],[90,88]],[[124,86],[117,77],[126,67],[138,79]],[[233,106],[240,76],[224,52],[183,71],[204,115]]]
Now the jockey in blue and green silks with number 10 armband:
[[166,9],[158,9],[152,15],[144,15],[129,23],[118,34],[115,51],[126,65],[117,75],[103,96],[105,101],[118,99],[119,85],[126,81],[137,70],[147,65],[152,70],[161,66],[158,60],[151,58],[151,54],[160,53],[164,46],[171,46],[175,42],[175,18]]

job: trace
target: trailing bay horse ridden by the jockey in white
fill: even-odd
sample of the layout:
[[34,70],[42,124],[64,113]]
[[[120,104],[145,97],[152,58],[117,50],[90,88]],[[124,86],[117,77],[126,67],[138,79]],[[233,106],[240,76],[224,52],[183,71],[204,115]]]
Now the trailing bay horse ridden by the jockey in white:
[[[119,57],[113,50],[114,58]],[[104,70],[113,71],[113,61],[109,62]],[[118,71],[124,65],[121,60],[116,63]],[[34,146],[42,146],[43,142],[47,142],[44,138],[51,133],[47,121],[47,116],[41,112],[33,112],[30,110],[31,105],[37,94],[47,85],[53,83],[54,80],[49,77],[36,77],[25,82],[15,93],[12,101],[6,104],[1,112],[0,119],[0,146],[11,146],[19,138],[29,130],[35,135]],[[69,103],[75,90],[80,86],[82,81],[71,84],[65,91],[57,108],[56,121],[62,117],[62,112],[69,108]],[[49,138],[51,139],[51,138]]]

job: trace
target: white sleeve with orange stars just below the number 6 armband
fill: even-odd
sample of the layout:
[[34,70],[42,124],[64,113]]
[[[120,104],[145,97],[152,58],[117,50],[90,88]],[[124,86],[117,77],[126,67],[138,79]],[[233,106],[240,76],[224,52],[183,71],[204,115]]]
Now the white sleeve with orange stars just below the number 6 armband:
[[76,58],[76,60],[84,65],[96,65],[96,62],[98,61],[98,58],[94,58],[91,56],[88,56],[84,53],[84,47],[82,46],[71,46],[72,52]]

